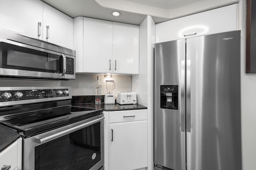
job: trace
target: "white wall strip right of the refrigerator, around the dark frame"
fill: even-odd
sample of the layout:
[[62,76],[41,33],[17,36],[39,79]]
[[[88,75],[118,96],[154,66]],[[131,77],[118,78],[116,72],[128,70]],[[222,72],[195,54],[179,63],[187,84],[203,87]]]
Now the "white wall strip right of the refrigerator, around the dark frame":
[[[241,119],[243,170],[255,170],[256,160],[256,74],[246,74],[246,0],[238,6],[238,29],[241,29]],[[254,37],[255,38],[255,37]]]

